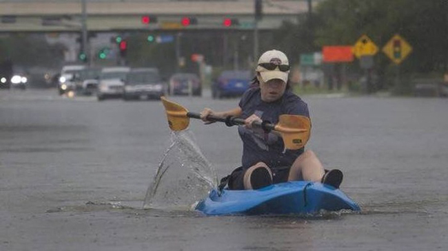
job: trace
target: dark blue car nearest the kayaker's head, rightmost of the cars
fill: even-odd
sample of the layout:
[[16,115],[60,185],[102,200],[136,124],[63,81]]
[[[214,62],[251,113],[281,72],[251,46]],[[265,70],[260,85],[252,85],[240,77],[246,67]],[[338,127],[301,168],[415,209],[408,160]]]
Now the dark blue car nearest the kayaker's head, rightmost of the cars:
[[212,84],[212,97],[241,96],[249,89],[250,83],[250,71],[224,71]]

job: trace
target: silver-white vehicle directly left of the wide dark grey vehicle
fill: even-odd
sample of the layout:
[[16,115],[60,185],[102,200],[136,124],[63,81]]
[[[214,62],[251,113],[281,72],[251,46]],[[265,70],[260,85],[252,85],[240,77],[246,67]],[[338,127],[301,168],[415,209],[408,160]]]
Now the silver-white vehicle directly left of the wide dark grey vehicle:
[[122,98],[124,91],[124,80],[130,67],[104,67],[99,76],[96,98],[99,101],[106,98]]

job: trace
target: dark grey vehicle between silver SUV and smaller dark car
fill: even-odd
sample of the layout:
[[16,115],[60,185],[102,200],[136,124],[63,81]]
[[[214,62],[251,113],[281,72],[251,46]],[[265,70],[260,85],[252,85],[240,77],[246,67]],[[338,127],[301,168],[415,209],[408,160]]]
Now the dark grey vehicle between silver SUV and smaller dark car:
[[123,100],[160,99],[165,94],[165,85],[155,68],[132,69],[125,78]]

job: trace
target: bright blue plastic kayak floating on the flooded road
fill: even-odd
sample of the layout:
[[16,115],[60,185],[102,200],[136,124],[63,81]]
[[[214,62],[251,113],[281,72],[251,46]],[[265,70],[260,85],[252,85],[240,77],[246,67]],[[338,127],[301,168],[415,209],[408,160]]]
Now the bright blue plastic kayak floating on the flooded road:
[[213,189],[198,203],[205,215],[313,214],[319,210],[359,211],[356,202],[341,190],[318,182],[285,182],[258,190]]

